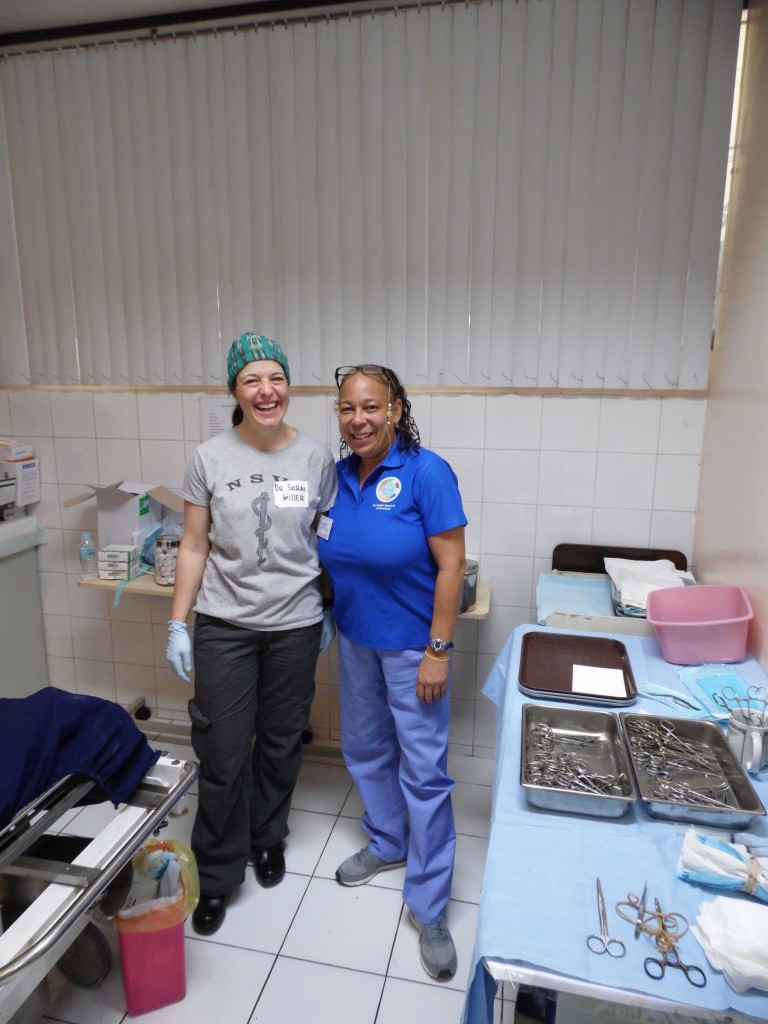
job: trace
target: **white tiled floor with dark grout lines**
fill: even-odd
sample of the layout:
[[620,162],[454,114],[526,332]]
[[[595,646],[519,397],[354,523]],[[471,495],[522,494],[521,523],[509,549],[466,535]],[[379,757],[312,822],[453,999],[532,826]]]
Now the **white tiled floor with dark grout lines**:
[[[189,748],[173,749],[189,758]],[[310,755],[309,755],[310,756]],[[493,764],[456,758],[454,809],[458,844],[446,919],[459,970],[449,982],[423,971],[417,934],[401,901],[403,869],[353,889],[334,871],[366,842],[360,802],[346,768],[305,760],[293,801],[288,871],[262,889],[249,870],[221,929],[210,938],[187,922],[186,998],[141,1017],[145,1024],[416,1024],[459,1022],[470,970],[490,813]],[[197,795],[163,836],[188,844]],[[66,830],[96,835],[104,805],[73,813]],[[108,938],[116,945],[114,935]],[[52,985],[41,1022],[121,1024],[125,1010],[119,958],[97,989]],[[511,1024],[510,1002],[497,1000],[496,1024]]]

